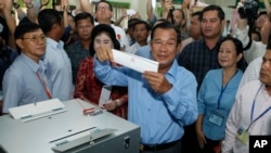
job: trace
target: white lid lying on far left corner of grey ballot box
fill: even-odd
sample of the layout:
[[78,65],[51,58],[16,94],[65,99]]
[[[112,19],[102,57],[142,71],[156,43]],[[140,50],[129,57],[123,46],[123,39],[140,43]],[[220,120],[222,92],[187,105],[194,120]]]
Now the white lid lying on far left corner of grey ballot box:
[[59,99],[36,102],[9,109],[15,119],[28,122],[43,116],[65,112],[64,104]]

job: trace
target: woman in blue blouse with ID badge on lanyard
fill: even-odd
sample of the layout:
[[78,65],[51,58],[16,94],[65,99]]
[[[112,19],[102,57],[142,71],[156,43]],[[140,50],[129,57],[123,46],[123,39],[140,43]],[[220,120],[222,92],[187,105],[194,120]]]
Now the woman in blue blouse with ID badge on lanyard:
[[219,69],[209,71],[198,91],[197,141],[201,153],[212,153],[219,149],[225,135],[225,122],[234,103],[243,72],[238,63],[243,60],[242,42],[225,38],[219,43]]

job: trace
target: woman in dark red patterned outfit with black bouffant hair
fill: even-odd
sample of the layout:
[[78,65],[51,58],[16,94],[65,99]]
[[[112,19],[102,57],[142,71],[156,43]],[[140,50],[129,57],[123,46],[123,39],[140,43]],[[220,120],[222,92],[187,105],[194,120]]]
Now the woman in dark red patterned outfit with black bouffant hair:
[[[120,49],[116,34],[109,25],[100,24],[93,28],[89,49],[90,56],[80,63],[76,79],[75,98],[95,104],[99,104],[102,89],[105,87],[99,81],[93,72],[93,58],[101,46],[107,46],[109,49]],[[112,64],[117,66],[115,63]],[[111,91],[111,100],[104,104],[104,107],[122,118],[127,118],[127,88],[112,87]]]

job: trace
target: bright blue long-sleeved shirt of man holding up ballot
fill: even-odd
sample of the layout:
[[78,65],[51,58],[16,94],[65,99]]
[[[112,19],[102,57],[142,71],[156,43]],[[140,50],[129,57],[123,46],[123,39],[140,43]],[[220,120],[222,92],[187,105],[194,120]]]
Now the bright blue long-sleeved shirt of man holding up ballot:
[[128,120],[141,127],[142,143],[178,140],[183,136],[183,126],[196,120],[196,79],[176,60],[165,74],[172,88],[164,94],[156,93],[141,73],[127,67],[111,67],[108,62],[94,58],[94,72],[106,85],[128,86]]

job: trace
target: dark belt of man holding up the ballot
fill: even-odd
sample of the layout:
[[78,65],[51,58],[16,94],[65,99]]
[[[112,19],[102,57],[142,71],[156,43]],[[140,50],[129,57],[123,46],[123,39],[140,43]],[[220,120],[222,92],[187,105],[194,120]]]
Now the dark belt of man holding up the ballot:
[[180,140],[176,140],[173,142],[168,142],[168,143],[162,143],[162,144],[143,144],[143,143],[140,143],[140,151],[160,151],[160,150],[166,150],[166,149],[169,149],[169,148],[173,146]]

